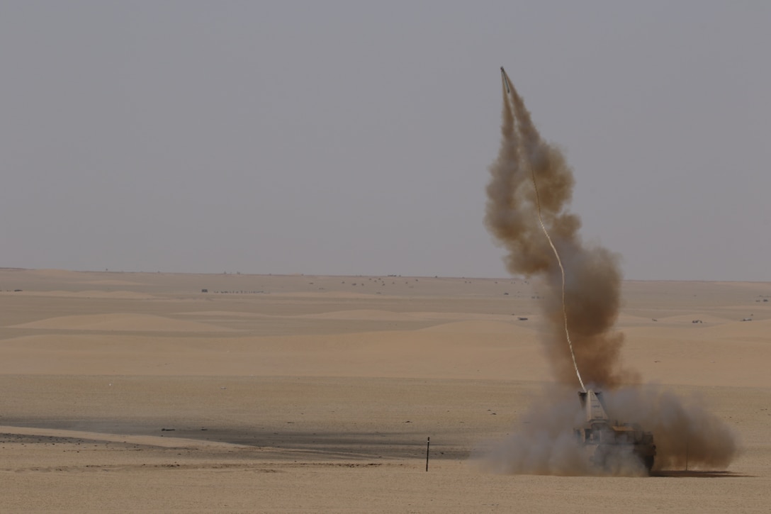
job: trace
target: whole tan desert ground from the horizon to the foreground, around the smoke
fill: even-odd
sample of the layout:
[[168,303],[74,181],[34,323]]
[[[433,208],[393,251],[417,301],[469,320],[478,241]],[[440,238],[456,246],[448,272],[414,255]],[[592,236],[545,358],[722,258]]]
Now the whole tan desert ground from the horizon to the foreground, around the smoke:
[[701,397],[742,448],[651,477],[473,458],[554,381],[540,294],[0,269],[0,512],[769,512],[771,283],[624,282],[625,366]]

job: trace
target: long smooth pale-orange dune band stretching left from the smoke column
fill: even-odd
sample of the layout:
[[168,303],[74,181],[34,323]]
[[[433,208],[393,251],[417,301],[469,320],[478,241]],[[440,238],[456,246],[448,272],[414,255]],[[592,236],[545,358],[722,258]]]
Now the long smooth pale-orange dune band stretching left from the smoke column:
[[[452,325],[456,325],[453,323]],[[547,372],[532,333],[505,325],[466,330],[323,336],[32,335],[0,340],[3,373],[295,375],[537,380]],[[473,351],[470,351],[472,350]],[[323,365],[320,365],[323,363]]]

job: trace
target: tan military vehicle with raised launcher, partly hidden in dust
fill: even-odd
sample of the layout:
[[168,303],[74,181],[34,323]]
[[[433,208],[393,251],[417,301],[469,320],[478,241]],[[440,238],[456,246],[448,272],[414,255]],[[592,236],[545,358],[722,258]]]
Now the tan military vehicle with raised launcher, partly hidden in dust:
[[578,396],[586,411],[586,423],[574,428],[574,433],[591,462],[608,470],[623,459],[636,456],[650,472],[656,456],[653,434],[643,431],[637,423],[619,423],[608,418],[602,393],[590,389]]

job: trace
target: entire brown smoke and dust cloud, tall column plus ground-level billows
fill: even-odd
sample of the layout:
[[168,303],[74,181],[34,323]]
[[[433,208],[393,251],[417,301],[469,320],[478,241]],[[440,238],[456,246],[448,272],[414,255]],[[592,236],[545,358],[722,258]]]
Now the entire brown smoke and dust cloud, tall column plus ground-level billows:
[[612,468],[588,462],[573,433],[585,421],[576,395],[582,379],[603,392],[611,419],[653,432],[654,470],[682,469],[686,460],[691,469],[725,469],[737,453],[730,428],[697,399],[643,384],[621,362],[624,335],[614,330],[621,306],[619,256],[581,240],[581,220],[568,210],[573,171],[559,148],[540,136],[503,68],[501,77],[501,143],[490,165],[485,225],[507,250],[508,271],[544,284],[543,344],[555,384],[534,398],[523,428],[493,445],[482,462],[507,473],[645,474],[634,455]]

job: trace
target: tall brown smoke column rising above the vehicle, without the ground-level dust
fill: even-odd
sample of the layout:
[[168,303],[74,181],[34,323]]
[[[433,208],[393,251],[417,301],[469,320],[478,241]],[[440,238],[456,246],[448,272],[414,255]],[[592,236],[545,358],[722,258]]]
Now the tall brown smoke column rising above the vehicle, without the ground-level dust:
[[581,220],[567,209],[573,171],[540,136],[524,100],[500,72],[501,140],[489,168],[485,225],[507,250],[512,274],[544,279],[544,350],[557,380],[574,383],[577,377],[583,390],[635,382],[638,374],[621,368],[624,336],[613,330],[621,305],[618,255],[581,241]]

